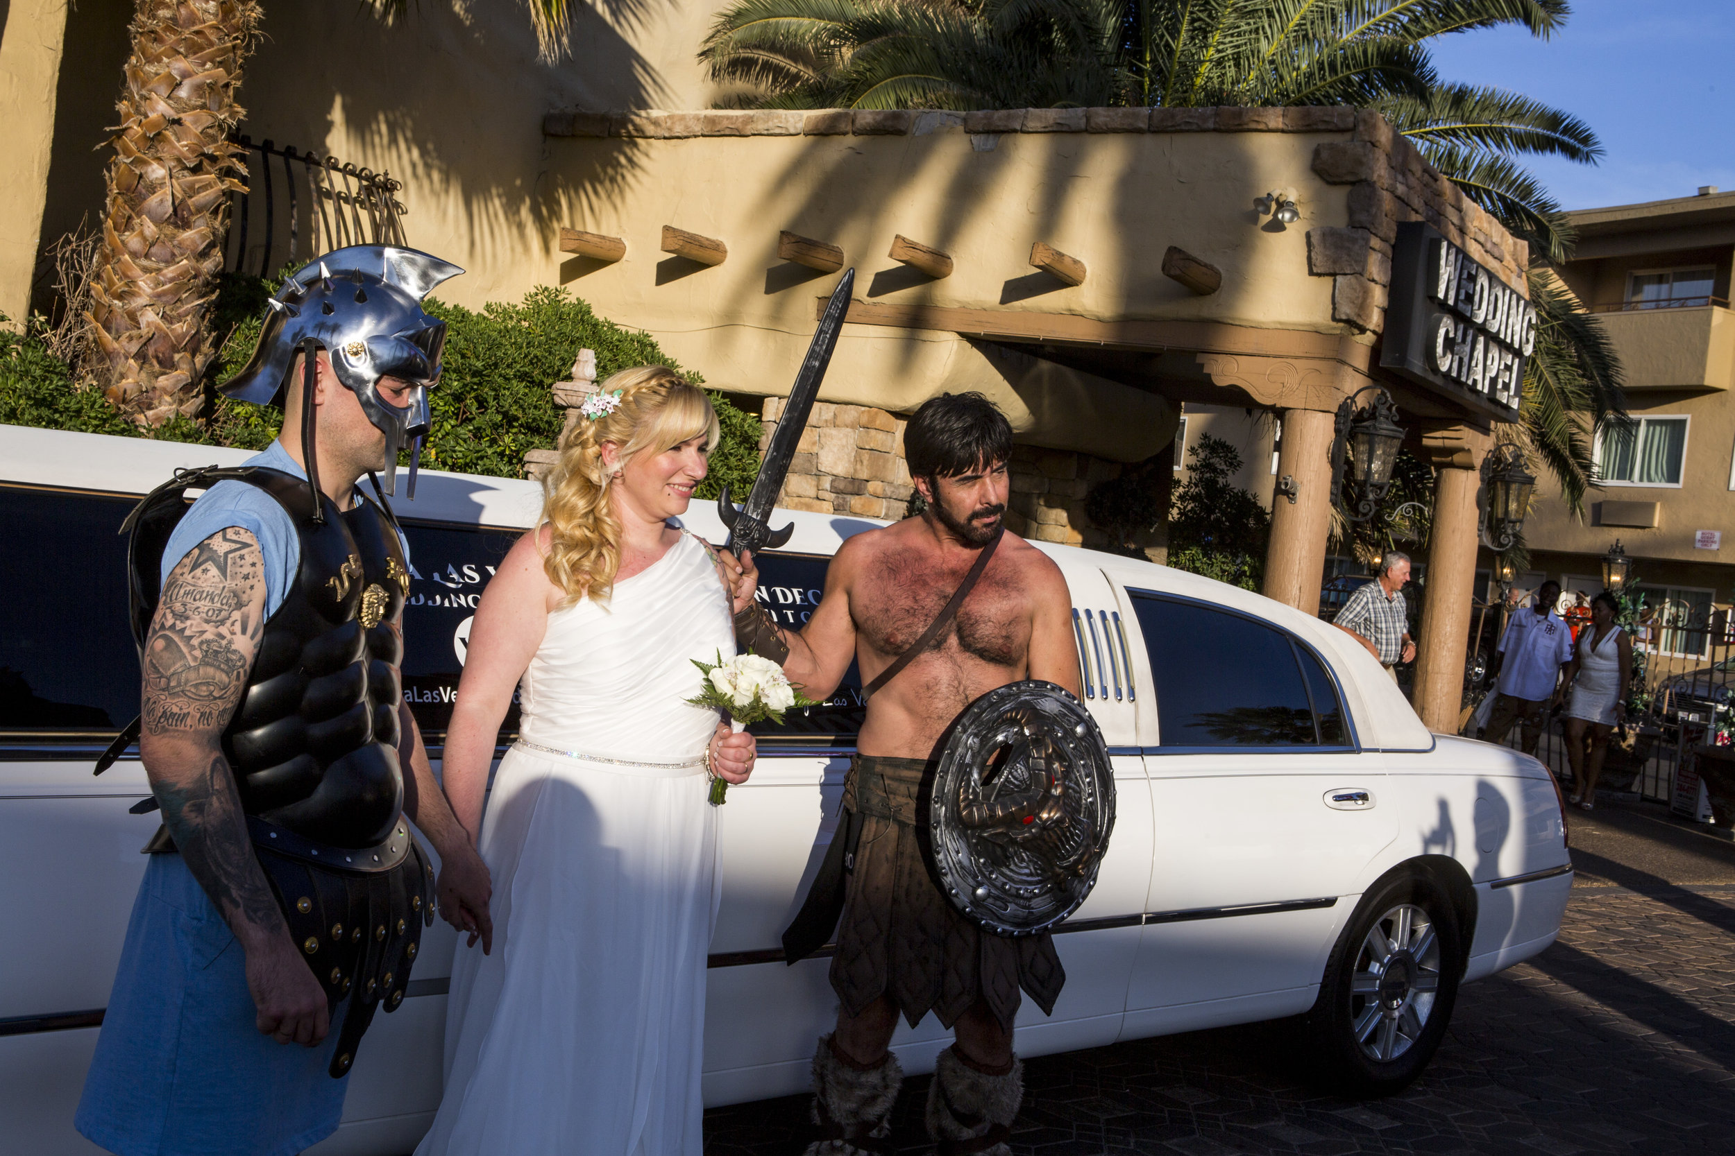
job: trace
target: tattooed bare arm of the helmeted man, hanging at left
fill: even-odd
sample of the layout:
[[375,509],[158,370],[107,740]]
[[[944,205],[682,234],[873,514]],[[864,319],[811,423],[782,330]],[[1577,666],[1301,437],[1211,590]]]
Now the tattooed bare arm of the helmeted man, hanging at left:
[[330,1028],[324,991],[253,858],[222,752],[264,617],[264,560],[248,530],[219,530],[175,565],[144,646],[139,754],[180,858],[246,951],[259,1031],[312,1047]]

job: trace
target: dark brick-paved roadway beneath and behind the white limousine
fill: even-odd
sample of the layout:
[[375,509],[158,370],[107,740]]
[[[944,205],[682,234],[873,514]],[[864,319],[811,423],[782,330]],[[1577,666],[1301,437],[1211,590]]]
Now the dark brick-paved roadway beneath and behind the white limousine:
[[[1655,804],[1574,811],[1560,941],[1463,990],[1400,1095],[1308,1087],[1282,1026],[1140,1040],[1025,1066],[1017,1156],[1735,1151],[1735,844]],[[923,1140],[926,1076],[899,1102]],[[796,1156],[803,1097],[706,1113],[706,1156]]]

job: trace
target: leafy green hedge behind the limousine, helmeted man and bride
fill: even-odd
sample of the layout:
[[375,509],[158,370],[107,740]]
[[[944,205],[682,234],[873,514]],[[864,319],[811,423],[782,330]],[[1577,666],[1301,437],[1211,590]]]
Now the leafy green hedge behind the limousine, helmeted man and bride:
[[[265,296],[279,283],[224,276],[212,308],[212,329],[222,341],[213,381],[246,364],[259,341]],[[581,348],[597,352],[599,378],[644,364],[680,371],[649,334],[599,317],[566,289],[531,289],[522,302],[489,302],[481,312],[437,300],[429,300],[427,308],[446,322],[444,373],[429,392],[434,430],[422,452],[422,464],[430,470],[522,477],[524,452],[552,449],[560,435],[566,414],[548,386],[571,376]],[[694,383],[704,381],[682,373]],[[723,395],[706,393],[723,438],[711,454],[711,475],[699,497],[715,497],[727,482],[744,499],[758,475],[760,421]],[[33,329],[23,336],[0,333],[0,423],[264,449],[278,437],[283,416],[267,406],[219,395],[203,423],[177,418],[158,430],[141,430],[99,392],[78,388],[71,369]]]

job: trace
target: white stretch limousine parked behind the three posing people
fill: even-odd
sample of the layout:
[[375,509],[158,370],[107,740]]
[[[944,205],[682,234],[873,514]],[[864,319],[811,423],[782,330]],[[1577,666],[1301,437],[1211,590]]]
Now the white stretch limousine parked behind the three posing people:
[[[156,816],[135,756],[90,766],[139,705],[121,518],[177,466],[246,454],[0,426],[0,1151],[94,1151],[71,1127]],[[404,695],[439,757],[468,622],[531,525],[531,482],[423,473],[397,503],[415,567]],[[826,560],[874,523],[784,513],[760,596],[802,622]],[[720,541],[694,503],[697,534]],[[1086,707],[1114,756],[1114,839],[1055,946],[1051,1017],[1025,1000],[1024,1055],[1308,1014],[1327,1066],[1364,1092],[1428,1062],[1457,986],[1535,955],[1572,884],[1553,780],[1503,747],[1431,735],[1348,636],[1258,594],[1084,549],[1041,546],[1072,591]],[[708,1104],[800,1092],[831,1024],[826,958],[779,936],[824,856],[862,719],[848,690],[765,728],[722,809]],[[507,719],[507,730],[517,726]],[[505,740],[503,740],[505,742]],[[404,1153],[441,1092],[453,934],[435,924],[409,998],[373,1021],[344,1127],[318,1153]],[[906,1071],[946,1043],[900,1028]],[[222,1080],[222,1073],[208,1073]]]

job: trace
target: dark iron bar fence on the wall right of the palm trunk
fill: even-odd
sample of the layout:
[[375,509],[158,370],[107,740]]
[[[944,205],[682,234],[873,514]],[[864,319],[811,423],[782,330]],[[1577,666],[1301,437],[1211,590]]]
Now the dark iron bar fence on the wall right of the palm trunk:
[[246,149],[246,191],[231,194],[227,272],[267,277],[345,244],[404,244],[408,210],[390,173],[271,140],[232,142]]

